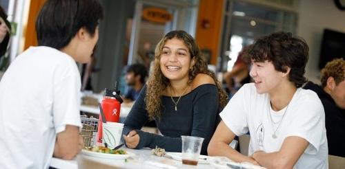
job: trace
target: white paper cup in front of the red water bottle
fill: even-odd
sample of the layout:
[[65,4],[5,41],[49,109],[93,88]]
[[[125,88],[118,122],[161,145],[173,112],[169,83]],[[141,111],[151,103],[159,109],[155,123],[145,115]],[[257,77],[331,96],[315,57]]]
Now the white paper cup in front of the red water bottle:
[[103,123],[103,143],[108,148],[115,148],[121,144],[121,135],[124,124],[116,122]]

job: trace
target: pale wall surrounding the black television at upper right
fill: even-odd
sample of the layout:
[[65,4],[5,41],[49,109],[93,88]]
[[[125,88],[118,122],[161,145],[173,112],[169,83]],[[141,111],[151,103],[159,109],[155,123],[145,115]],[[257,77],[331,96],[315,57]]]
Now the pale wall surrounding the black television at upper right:
[[319,52],[324,28],[345,32],[345,10],[338,10],[331,0],[299,1],[297,35],[308,43],[306,77],[314,82],[319,81]]

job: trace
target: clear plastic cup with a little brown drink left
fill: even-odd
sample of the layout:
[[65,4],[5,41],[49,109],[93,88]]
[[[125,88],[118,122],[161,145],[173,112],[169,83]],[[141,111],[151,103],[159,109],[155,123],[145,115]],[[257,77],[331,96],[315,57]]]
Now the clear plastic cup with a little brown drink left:
[[182,135],[182,164],[197,166],[204,138]]

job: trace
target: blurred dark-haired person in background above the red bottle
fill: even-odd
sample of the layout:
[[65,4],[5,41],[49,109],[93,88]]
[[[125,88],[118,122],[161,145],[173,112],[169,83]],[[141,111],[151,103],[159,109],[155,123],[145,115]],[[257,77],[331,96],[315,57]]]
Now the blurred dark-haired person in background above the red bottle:
[[122,96],[125,103],[137,100],[141,89],[144,87],[146,76],[148,76],[148,71],[145,65],[137,63],[127,67],[125,78],[129,89]]

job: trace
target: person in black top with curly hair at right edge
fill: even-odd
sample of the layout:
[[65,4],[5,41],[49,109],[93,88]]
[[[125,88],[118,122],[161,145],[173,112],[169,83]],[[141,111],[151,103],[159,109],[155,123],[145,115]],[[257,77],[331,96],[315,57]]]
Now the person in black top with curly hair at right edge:
[[345,60],[337,58],[321,70],[321,86],[307,82],[319,96],[326,115],[328,155],[345,157]]

